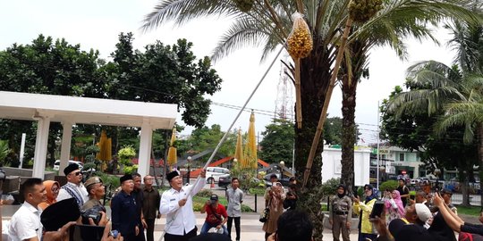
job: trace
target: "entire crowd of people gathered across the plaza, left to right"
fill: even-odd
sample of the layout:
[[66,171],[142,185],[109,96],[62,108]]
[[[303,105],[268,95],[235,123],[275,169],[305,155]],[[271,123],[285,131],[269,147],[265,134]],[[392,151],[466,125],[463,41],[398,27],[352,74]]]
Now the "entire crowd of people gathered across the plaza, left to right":
[[[179,171],[169,172],[166,179],[171,188],[162,195],[153,187],[153,177],[144,177],[141,187],[140,174],[124,175],[110,203],[111,220],[101,202],[106,195],[102,179],[92,177],[82,183],[77,164],[67,166],[64,174],[64,186],[34,178],[21,184],[23,204],[9,222],[9,240],[153,241],[155,221],[161,215],[166,219],[166,241],[232,240],[233,221],[235,240],[241,240],[244,194],[239,179],[233,178],[226,189],[227,206],[220,204],[214,194],[201,207],[200,212],[207,216],[198,235],[192,197],[206,184],[204,170],[194,185],[184,185]],[[269,212],[262,227],[265,240],[312,240],[309,216],[296,208],[296,180],[291,179],[286,190],[276,175],[270,177],[270,182],[264,195]],[[343,241],[350,240],[352,215],[358,217],[359,241],[455,241],[454,232],[460,233],[460,240],[483,240],[483,225],[465,222],[458,216],[450,190],[421,190],[410,196],[402,179],[399,187],[380,195],[371,185],[363,190],[359,196],[349,194],[342,184],[336,187],[328,215],[334,240],[340,240],[341,235]]]

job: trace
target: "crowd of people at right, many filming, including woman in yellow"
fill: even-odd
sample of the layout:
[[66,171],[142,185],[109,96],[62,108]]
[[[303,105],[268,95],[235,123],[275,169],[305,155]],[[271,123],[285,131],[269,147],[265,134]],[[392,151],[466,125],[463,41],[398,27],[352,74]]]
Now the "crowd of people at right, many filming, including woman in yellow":
[[[420,190],[411,196],[400,179],[399,187],[381,195],[371,185],[364,187],[362,196],[348,194],[343,185],[336,190],[329,205],[334,240],[340,240],[341,233],[343,241],[350,240],[352,212],[359,219],[359,241],[455,241],[454,232],[459,233],[459,240],[483,240],[483,225],[464,222],[458,216],[449,189],[435,193]],[[380,213],[377,203],[383,207]]]

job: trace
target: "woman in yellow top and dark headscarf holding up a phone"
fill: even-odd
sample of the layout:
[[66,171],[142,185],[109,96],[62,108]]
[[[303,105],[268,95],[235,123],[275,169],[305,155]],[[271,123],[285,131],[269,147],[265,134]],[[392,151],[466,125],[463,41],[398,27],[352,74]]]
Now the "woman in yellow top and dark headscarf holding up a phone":
[[375,241],[377,240],[377,230],[369,221],[369,215],[372,212],[372,208],[377,201],[377,189],[372,185],[367,184],[364,186],[364,201],[360,201],[359,196],[354,196],[352,211],[359,214],[359,241]]

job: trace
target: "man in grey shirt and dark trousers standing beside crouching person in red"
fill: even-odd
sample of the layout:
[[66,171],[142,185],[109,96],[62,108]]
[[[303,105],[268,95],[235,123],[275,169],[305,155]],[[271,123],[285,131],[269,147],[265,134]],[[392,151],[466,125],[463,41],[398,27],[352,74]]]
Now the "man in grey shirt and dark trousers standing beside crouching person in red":
[[240,181],[237,178],[232,179],[232,187],[226,189],[226,199],[228,200],[228,236],[232,238],[232,222],[235,221],[236,241],[240,241],[240,217],[242,217],[243,191],[238,188]]

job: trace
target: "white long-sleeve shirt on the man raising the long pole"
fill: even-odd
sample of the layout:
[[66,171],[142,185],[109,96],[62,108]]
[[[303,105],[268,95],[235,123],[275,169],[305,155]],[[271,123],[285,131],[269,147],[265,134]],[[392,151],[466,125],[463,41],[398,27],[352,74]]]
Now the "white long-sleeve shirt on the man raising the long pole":
[[[166,215],[166,233],[182,236],[196,227],[192,195],[196,195],[205,187],[206,182],[206,179],[199,179],[196,187],[193,187],[193,185],[183,186],[179,192],[171,188],[163,193],[159,212]],[[190,195],[191,188],[193,188],[193,192]],[[183,198],[186,198],[186,204],[180,207],[178,202]]]

